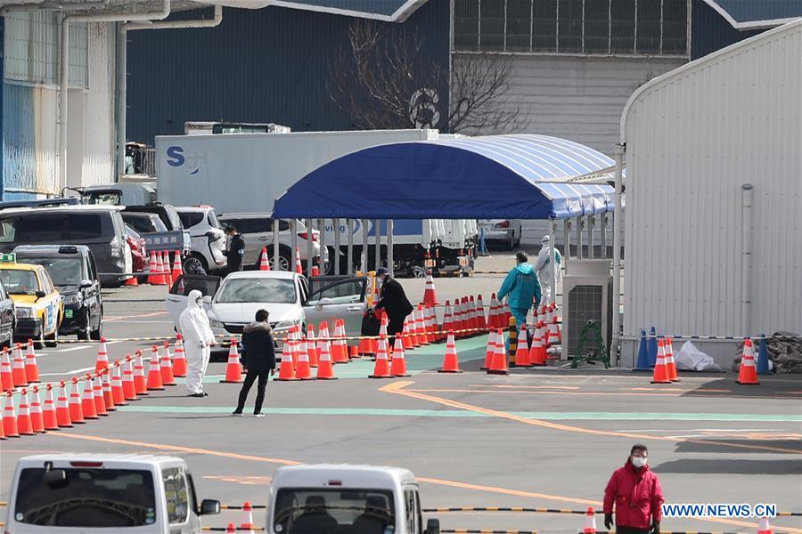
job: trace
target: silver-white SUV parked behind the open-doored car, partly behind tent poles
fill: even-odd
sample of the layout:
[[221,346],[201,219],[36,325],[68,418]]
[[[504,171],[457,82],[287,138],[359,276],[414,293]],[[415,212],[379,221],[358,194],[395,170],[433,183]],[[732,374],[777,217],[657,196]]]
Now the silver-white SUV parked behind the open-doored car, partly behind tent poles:
[[[270,214],[221,214],[218,217],[224,226],[233,224],[245,239],[245,257],[243,263],[246,269],[259,268],[259,255],[262,248],[267,247],[270,255],[270,268],[275,269],[273,255],[273,225],[274,219]],[[292,261],[292,240],[290,233],[290,222],[279,220],[279,263],[281,271],[290,271]],[[306,224],[301,221],[298,224],[298,254],[301,265],[306,269],[307,265],[307,232]],[[312,264],[320,265],[320,232],[312,231]],[[328,264],[328,251],[323,255],[324,264]]]

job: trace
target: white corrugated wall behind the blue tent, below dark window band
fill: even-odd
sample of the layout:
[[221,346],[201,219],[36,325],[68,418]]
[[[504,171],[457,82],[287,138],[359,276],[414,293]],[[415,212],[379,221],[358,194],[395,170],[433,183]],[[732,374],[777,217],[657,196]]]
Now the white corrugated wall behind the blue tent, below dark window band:
[[[455,53],[454,61],[471,54]],[[510,100],[520,106],[517,132],[553,135],[612,155],[627,99],[682,58],[504,55],[512,62]],[[503,134],[483,130],[479,134]]]

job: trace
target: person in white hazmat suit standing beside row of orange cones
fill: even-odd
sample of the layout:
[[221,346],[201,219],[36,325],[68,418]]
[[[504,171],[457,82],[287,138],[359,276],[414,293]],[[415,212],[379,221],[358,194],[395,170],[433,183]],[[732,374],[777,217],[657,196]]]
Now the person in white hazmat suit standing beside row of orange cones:
[[209,326],[209,317],[203,309],[203,295],[192,289],[186,299],[186,309],[178,318],[178,328],[184,336],[186,354],[186,392],[190,397],[206,397],[203,376],[209,365],[215,335]]

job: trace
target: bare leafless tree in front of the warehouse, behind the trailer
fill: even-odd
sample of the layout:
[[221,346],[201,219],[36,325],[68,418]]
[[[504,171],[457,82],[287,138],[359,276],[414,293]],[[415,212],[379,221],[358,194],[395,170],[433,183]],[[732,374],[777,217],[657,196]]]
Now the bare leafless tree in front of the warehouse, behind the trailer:
[[348,28],[348,45],[331,67],[331,100],[364,129],[431,127],[456,133],[518,125],[520,106],[509,98],[509,60],[455,57],[446,94],[447,69],[424,57],[422,50],[417,32],[355,21]]

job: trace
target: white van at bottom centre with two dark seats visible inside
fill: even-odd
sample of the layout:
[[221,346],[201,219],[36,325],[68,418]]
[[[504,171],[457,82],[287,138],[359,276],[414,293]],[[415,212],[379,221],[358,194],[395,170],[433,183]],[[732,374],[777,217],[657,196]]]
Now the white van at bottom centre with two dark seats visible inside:
[[397,467],[292,465],[274,474],[269,534],[439,534],[423,527],[418,482]]

